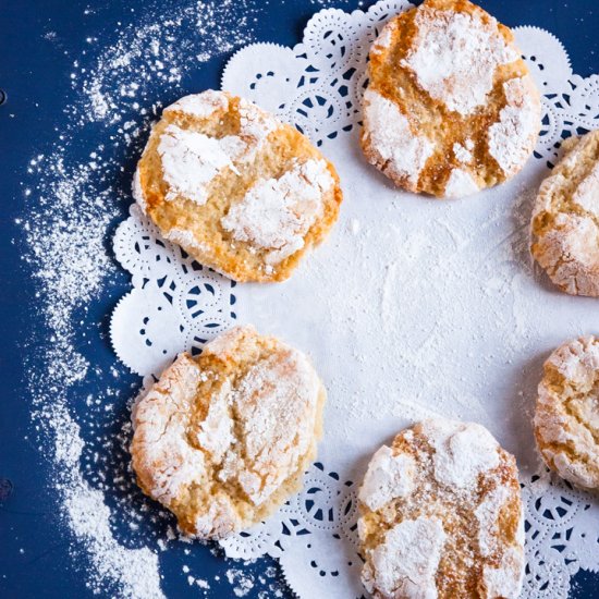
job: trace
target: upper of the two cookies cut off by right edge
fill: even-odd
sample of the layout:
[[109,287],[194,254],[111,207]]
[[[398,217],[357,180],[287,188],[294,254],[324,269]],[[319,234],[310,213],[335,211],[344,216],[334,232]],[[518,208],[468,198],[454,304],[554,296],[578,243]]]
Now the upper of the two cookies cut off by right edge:
[[563,147],[535,203],[531,252],[560,290],[599,297],[599,131]]

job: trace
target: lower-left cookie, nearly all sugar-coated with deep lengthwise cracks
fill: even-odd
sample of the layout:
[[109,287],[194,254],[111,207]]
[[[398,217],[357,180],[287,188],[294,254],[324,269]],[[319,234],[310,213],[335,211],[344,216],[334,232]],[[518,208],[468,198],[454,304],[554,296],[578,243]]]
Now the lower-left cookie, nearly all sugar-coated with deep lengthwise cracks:
[[142,490],[201,539],[262,521],[316,456],[325,388],[307,357],[236,327],[181,354],[133,411]]

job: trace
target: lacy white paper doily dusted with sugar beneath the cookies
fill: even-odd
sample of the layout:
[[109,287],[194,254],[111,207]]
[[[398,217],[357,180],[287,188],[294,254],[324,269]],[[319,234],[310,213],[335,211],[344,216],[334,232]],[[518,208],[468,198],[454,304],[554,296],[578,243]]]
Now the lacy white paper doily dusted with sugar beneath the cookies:
[[[487,426],[518,459],[526,505],[526,597],[565,598],[599,569],[599,509],[539,467],[530,414],[540,367],[562,341],[596,332],[592,300],[554,292],[530,264],[530,203],[560,140],[599,125],[599,77],[572,73],[563,46],[536,27],[515,35],[543,94],[535,158],[475,198],[404,194],[368,167],[356,132],[370,44],[405,10],[323,10],[295,48],[256,44],[229,62],[222,88],[297,126],[339,169],[344,204],[331,239],[286,283],[237,285],[160,239],[133,207],[117,232],[133,291],[111,338],[139,375],[240,321],[313,355],[329,390],[319,462],[279,514],[223,541],[227,554],[277,557],[305,598],[359,597],[355,490],[371,453],[430,414]],[[239,302],[236,302],[239,298]],[[595,330],[594,330],[595,329]]]

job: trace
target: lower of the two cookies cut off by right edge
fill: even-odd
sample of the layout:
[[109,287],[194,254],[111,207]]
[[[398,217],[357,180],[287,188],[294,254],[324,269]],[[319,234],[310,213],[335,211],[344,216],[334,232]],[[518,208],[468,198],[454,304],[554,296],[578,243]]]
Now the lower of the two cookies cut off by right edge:
[[562,478],[599,490],[599,340],[582,337],[545,363],[535,437],[545,463]]

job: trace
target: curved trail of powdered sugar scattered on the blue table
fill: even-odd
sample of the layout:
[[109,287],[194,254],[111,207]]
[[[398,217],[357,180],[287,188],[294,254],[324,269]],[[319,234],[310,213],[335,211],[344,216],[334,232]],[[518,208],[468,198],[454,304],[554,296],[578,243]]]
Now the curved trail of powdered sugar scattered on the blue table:
[[[118,25],[111,44],[89,37],[72,65],[56,140],[26,166],[26,209],[15,224],[42,320],[26,344],[33,426],[73,563],[94,594],[161,597],[158,551],[175,538],[172,518],[133,484],[126,403],[134,389],[121,367],[102,372],[87,357],[103,335],[95,302],[119,277],[107,240],[131,201],[123,164],[138,155],[162,101],[182,95],[184,75],[253,40],[254,14],[244,0],[190,2],[169,14],[146,7],[137,22]],[[58,44],[54,32],[44,37]],[[81,161],[71,140],[87,138],[90,123],[97,135]],[[82,396],[82,384],[94,392]]]

